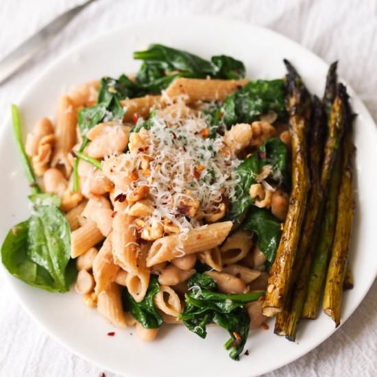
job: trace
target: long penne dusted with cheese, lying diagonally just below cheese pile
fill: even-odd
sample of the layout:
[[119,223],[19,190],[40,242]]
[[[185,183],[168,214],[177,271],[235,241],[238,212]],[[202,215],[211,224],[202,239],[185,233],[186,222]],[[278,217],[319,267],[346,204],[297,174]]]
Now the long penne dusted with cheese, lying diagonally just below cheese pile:
[[224,221],[190,230],[184,235],[162,237],[151,245],[147,257],[147,267],[171,260],[180,254],[194,254],[217,247],[226,239],[231,228],[232,221]]

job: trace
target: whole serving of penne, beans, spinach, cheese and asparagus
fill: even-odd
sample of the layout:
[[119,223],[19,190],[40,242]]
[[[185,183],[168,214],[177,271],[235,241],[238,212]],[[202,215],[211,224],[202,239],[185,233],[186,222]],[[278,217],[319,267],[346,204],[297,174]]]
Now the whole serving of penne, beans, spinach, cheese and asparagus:
[[135,76],[62,95],[25,145],[12,106],[32,215],[5,238],[5,268],[51,292],[74,284],[145,341],[217,324],[235,360],[268,317],[295,340],[323,288],[338,326],[354,147],[337,65],[319,99],[287,60],[283,79],[247,80],[230,56],[151,45],[134,58]]

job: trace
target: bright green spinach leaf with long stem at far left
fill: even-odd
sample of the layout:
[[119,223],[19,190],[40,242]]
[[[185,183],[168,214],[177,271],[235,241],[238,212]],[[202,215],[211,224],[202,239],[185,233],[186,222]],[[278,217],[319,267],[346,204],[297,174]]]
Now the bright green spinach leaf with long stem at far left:
[[[24,151],[21,122],[16,106],[12,106],[14,133],[19,149]],[[58,209],[60,198],[40,193],[26,154],[23,161],[27,178],[33,188],[29,199],[33,203],[32,216],[14,226],[1,245],[1,260],[16,278],[40,289],[66,292],[75,279],[75,263],[71,258],[71,230]]]

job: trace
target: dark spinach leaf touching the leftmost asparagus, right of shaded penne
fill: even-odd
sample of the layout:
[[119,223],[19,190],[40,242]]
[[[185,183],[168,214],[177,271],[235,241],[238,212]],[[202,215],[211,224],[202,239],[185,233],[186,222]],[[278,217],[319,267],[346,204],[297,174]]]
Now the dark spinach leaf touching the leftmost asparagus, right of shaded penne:
[[243,229],[256,234],[260,251],[265,254],[269,263],[273,263],[282,235],[280,221],[269,210],[251,206]]

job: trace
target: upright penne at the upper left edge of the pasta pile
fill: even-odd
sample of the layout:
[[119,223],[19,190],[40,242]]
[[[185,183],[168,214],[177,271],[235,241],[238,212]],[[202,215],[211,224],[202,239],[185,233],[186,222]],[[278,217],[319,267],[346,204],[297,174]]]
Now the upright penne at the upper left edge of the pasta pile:
[[67,156],[76,143],[76,123],[75,104],[70,97],[62,95],[56,113],[56,141],[51,166],[63,165],[66,177],[69,177],[72,171],[72,165]]

